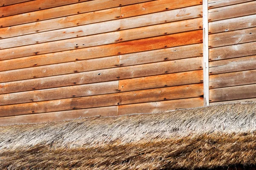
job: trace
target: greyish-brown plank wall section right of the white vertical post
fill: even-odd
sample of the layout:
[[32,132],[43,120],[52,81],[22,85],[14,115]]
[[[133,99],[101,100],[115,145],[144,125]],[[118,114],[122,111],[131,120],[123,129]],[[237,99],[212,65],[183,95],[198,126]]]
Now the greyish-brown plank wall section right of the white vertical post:
[[208,5],[209,101],[256,101],[256,1]]

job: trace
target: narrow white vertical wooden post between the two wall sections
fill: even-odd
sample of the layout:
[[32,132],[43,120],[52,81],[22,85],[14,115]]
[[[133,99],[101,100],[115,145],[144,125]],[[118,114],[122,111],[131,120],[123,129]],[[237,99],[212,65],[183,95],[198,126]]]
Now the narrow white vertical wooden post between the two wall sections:
[[204,105],[209,105],[209,36],[208,36],[208,0],[203,0],[204,29]]

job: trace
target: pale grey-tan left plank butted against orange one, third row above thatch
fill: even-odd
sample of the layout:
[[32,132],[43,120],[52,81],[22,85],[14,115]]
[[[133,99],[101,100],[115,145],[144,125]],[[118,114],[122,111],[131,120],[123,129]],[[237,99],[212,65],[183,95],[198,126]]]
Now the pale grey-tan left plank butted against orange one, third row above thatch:
[[87,85],[75,85],[61,88],[50,88],[37,91],[26,91],[12,94],[1,94],[0,105],[39,102],[45,100],[65,99],[118,92],[118,81],[101,82]]

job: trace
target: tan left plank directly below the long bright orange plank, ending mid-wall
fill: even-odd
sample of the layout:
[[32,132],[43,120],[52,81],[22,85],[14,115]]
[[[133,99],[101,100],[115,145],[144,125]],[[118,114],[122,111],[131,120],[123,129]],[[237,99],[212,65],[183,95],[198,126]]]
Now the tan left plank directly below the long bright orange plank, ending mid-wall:
[[61,74],[72,74],[84,71],[114,68],[119,66],[119,56],[87,59],[75,62],[64,62],[54,65],[23,68],[18,70],[1,71],[0,82],[11,82],[23,79],[34,79]]

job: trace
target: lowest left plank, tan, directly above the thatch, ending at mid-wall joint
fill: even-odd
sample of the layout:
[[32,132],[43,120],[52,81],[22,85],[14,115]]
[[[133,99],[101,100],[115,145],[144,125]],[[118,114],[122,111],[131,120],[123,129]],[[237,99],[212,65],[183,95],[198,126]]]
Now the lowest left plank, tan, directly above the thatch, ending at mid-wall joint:
[[84,118],[84,117],[90,117],[90,116],[96,116],[96,115],[116,116],[117,106],[0,117],[0,126],[11,125],[11,124],[22,124],[22,123],[55,122],[55,121],[78,119],[78,118]]

